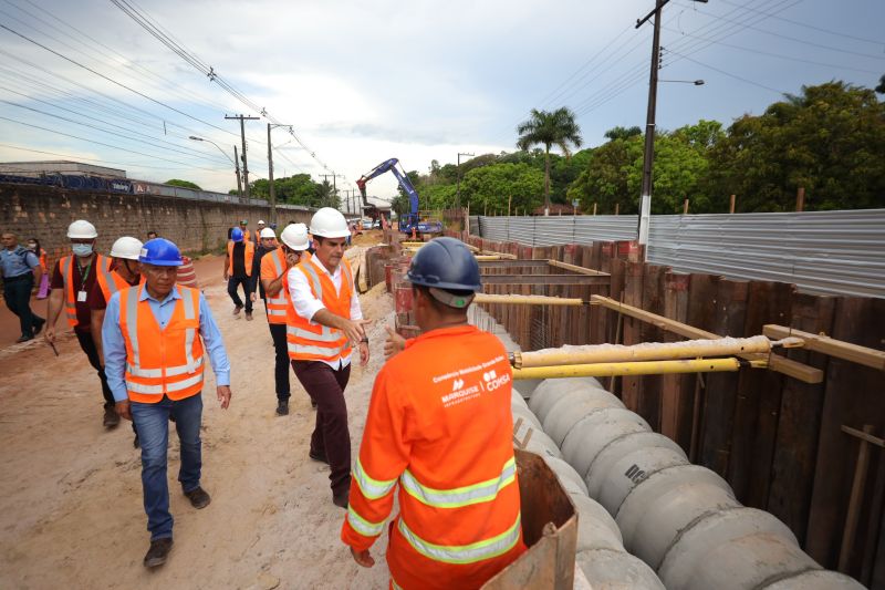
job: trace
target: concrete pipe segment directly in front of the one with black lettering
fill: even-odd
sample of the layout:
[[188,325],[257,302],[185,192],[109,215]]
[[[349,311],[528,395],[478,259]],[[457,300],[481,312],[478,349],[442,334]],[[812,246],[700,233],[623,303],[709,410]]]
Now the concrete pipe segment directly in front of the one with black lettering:
[[701,516],[739,508],[728,484],[706,467],[679,465],[649,475],[621,504],[624,547],[657,569],[679,532]]

